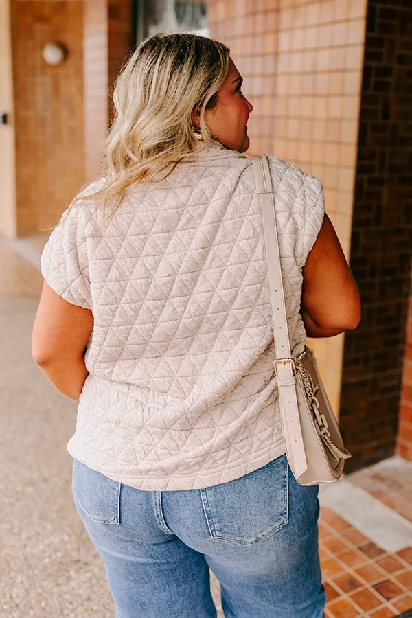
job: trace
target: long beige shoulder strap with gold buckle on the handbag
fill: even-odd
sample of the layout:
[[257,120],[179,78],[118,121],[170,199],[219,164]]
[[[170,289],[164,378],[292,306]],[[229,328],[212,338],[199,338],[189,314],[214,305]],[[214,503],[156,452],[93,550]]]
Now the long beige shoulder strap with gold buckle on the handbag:
[[295,361],[293,361],[290,354],[271,170],[269,169],[266,155],[253,157],[252,165],[262,213],[266,268],[271,294],[273,336],[276,350],[276,360],[273,361],[273,367],[277,376],[282,429],[288,438],[286,440],[285,437],[285,442],[290,443],[292,447],[290,453],[288,453],[288,458],[291,457],[293,459],[294,473],[299,477],[300,474],[303,474],[308,469],[308,463],[297,404]]

